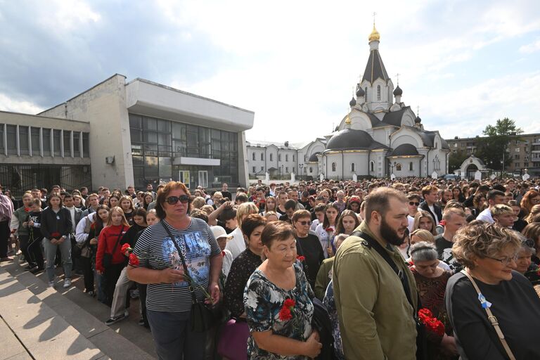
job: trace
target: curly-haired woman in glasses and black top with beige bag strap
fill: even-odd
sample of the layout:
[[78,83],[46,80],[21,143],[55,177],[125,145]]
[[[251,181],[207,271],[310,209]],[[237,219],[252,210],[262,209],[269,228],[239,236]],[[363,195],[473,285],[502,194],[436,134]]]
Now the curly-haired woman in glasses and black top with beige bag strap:
[[540,299],[514,271],[520,247],[498,224],[473,221],[456,233],[452,252],[465,269],[449,279],[445,300],[461,359],[540,359]]

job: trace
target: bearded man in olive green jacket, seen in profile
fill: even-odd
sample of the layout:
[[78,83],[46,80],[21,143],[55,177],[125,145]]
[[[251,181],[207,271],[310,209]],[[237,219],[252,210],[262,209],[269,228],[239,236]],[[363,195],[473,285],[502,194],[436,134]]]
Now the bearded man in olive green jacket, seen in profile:
[[346,359],[416,359],[416,283],[396,248],[408,234],[407,202],[393,188],[370,193],[366,219],[335,255],[333,290]]

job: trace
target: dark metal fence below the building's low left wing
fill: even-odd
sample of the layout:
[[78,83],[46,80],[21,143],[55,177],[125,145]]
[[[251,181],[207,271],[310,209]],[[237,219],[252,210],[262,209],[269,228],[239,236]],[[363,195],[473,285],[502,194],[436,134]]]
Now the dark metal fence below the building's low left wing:
[[86,186],[91,189],[89,165],[0,165],[0,184],[19,198],[32,188],[60,185],[68,191]]

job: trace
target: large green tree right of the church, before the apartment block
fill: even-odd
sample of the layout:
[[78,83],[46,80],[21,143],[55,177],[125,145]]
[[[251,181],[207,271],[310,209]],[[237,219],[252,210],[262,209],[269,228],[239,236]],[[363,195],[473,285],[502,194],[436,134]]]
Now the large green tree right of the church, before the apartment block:
[[476,157],[482,159],[487,167],[502,170],[510,164],[510,156],[506,153],[510,139],[520,140],[516,135],[523,130],[515,126],[515,121],[505,117],[497,120],[495,125],[487,125],[482,131],[485,137],[479,139]]

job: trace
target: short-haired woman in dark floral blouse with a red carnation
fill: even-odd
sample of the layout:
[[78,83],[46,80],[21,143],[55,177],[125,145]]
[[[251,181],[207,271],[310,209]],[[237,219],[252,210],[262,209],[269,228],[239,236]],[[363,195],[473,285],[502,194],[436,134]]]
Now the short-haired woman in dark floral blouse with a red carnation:
[[249,358],[314,358],[322,345],[311,328],[314,293],[296,263],[295,231],[290,224],[271,222],[264,226],[261,241],[266,260],[244,291]]

